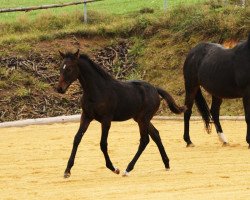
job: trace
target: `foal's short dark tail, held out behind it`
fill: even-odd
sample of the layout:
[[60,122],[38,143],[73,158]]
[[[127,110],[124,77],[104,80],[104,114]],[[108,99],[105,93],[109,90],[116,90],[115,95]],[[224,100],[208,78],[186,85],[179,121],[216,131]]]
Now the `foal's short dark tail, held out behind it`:
[[178,106],[175,103],[175,100],[173,99],[173,97],[165,90],[161,89],[161,88],[156,88],[158,94],[165,99],[165,101],[168,103],[168,107],[169,109],[176,114],[180,114],[186,111],[186,106]]

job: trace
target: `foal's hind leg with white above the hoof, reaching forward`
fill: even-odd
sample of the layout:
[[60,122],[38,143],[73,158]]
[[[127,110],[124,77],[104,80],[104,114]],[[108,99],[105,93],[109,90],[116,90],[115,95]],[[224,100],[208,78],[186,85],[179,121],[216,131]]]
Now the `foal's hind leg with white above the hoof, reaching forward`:
[[149,122],[138,122],[138,125],[141,136],[139,148],[132,161],[128,164],[128,167],[124,172],[123,176],[128,176],[128,173],[134,169],[136,161],[139,159],[140,155],[149,143]]

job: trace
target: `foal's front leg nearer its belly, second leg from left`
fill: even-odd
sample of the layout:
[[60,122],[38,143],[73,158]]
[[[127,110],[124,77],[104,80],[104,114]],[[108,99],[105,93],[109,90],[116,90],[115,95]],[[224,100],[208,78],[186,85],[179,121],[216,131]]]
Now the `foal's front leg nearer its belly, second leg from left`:
[[101,150],[103,152],[103,155],[105,157],[106,167],[108,169],[110,169],[111,171],[113,171],[114,173],[119,174],[120,170],[113,166],[113,164],[109,158],[109,155],[108,155],[107,139],[108,139],[108,133],[109,133],[110,126],[111,126],[111,121],[103,121],[102,122],[102,137],[101,137],[100,146],[101,146]]

